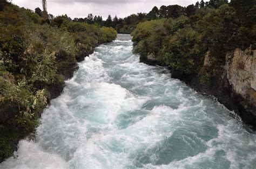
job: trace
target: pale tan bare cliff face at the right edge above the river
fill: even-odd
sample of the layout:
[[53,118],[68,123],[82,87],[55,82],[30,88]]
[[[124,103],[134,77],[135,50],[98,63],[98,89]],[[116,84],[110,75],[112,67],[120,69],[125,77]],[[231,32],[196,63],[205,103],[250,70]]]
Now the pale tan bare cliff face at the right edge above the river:
[[256,50],[251,48],[226,55],[225,70],[231,85],[231,96],[237,98],[239,114],[256,126]]

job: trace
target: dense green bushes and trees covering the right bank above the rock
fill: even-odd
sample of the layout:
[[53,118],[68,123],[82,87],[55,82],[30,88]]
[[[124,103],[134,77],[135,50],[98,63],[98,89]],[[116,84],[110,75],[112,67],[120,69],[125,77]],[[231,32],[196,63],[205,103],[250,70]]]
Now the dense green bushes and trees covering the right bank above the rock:
[[[222,71],[227,52],[250,45],[255,49],[255,0],[200,4],[192,5],[190,15],[180,13],[138,24],[132,32],[134,53],[140,54],[141,61],[152,55],[158,64],[183,74],[200,74],[201,83],[210,85],[212,77]],[[159,13],[157,18],[165,16]],[[202,69],[206,53],[213,63]]]

